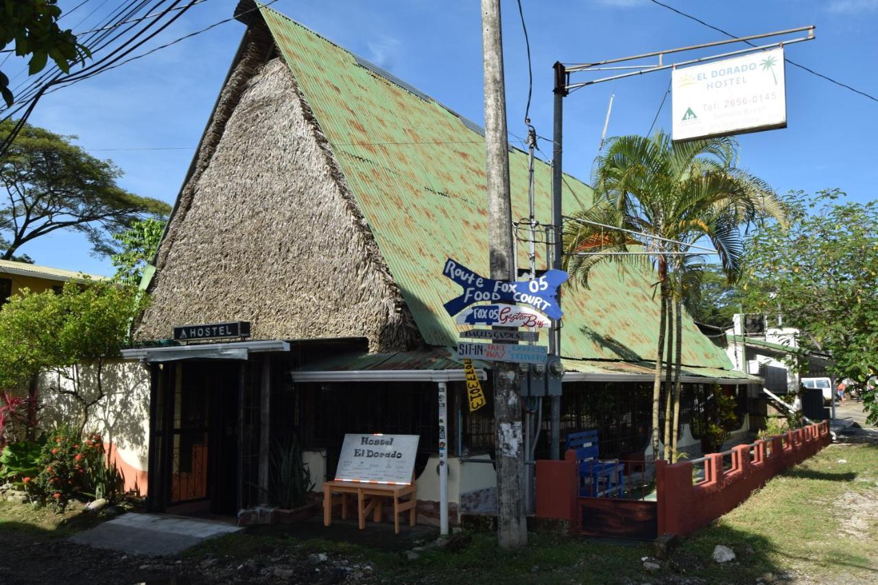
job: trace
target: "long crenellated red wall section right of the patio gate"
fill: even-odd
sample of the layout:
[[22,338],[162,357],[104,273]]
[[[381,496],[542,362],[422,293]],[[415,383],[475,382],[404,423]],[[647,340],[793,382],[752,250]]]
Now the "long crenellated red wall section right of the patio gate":
[[824,421],[782,437],[734,447],[728,471],[723,471],[723,455],[711,453],[704,461],[704,480],[694,485],[691,462],[668,465],[659,461],[659,534],[684,535],[708,525],[744,502],[766,481],[830,442],[829,423]]

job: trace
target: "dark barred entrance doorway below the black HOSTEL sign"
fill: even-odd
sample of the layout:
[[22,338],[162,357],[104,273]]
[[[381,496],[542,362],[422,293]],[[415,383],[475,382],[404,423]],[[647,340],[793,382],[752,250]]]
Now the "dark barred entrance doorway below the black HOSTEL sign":
[[164,476],[162,502],[156,500],[154,509],[182,514],[237,512],[242,367],[242,362],[233,361],[173,365],[167,391],[162,393],[165,400],[159,401],[165,423],[154,426],[161,428],[153,444],[164,446],[154,459]]

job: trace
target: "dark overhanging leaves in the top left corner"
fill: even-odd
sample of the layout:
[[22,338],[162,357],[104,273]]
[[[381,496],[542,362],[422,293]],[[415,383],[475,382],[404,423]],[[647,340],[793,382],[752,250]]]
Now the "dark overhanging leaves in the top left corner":
[[[76,61],[85,61],[91,53],[88,47],[76,42],[70,29],[61,30],[58,19],[61,8],[58,0],[7,0],[0,8],[0,49],[15,41],[15,54],[31,55],[27,74],[40,73],[49,57],[64,73]],[[0,95],[7,106],[12,105],[9,77],[0,71]]]

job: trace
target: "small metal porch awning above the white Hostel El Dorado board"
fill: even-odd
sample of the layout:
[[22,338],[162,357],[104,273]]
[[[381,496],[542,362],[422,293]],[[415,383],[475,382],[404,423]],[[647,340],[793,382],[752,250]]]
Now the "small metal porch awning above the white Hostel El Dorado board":
[[[297,382],[365,381],[452,381],[464,380],[463,365],[451,358],[451,351],[430,348],[395,353],[347,353],[303,365],[291,372]],[[485,367],[475,362],[479,379],[486,379]]]

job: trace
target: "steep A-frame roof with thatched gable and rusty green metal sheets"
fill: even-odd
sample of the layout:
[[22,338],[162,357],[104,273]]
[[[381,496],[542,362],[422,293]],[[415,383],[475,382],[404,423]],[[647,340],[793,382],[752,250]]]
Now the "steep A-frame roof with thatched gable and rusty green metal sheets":
[[[357,307],[371,323],[362,329],[371,351],[419,338],[456,343],[462,328],[443,303],[459,288],[443,278],[444,261],[488,272],[479,127],[276,11],[259,13],[248,35],[267,31],[285,67],[263,66],[274,54],[245,42],[162,243],[156,305],[141,336],[220,314],[255,321],[261,338],[351,336],[338,310]],[[520,218],[527,156],[510,153],[510,168]],[[545,222],[550,185],[549,166],[538,162]],[[591,193],[566,177],[565,199],[572,212]],[[315,279],[325,279],[319,293]],[[605,265],[590,289],[566,290],[565,357],[654,359],[654,281],[648,268]],[[684,329],[684,363],[730,367],[688,318]]]

